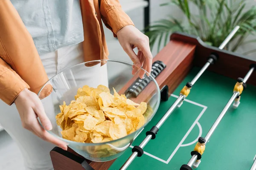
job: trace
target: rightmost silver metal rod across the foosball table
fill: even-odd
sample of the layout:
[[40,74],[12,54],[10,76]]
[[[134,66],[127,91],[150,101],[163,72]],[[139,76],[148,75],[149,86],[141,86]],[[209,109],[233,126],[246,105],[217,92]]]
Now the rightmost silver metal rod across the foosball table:
[[[250,77],[250,75],[252,74],[254,68],[251,68],[248,73],[246,74],[246,76],[244,77],[244,83],[248,80],[248,78]],[[210,137],[212,136],[212,134],[214,133],[215,129],[217,128],[218,124],[221,122],[221,119],[224,117],[224,115],[227,113],[228,109],[230,108],[230,106],[232,105],[232,103],[234,102],[234,100],[236,99],[236,97],[239,95],[238,92],[233,92],[233,95],[231,96],[231,98],[229,99],[229,101],[227,102],[227,104],[225,105],[224,109],[221,111],[220,115],[218,116],[218,118],[215,120],[214,124],[212,125],[212,127],[210,128],[210,130],[208,131],[208,133],[206,134],[206,136],[204,137],[204,139],[206,140],[205,145],[207,144],[207,142],[209,142]],[[197,159],[196,155],[193,155],[190,160],[188,161],[187,165],[189,165],[190,167],[192,167],[192,165],[195,163]]]

